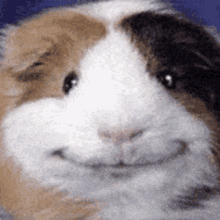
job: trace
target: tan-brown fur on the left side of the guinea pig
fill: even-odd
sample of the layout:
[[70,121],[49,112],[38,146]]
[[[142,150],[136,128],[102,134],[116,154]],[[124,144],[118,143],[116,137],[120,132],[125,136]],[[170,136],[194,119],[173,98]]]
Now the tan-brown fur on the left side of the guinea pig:
[[[105,34],[102,23],[62,10],[10,31],[0,69],[0,121],[26,101],[61,97],[67,71],[75,70],[86,49]],[[46,220],[84,219],[99,210],[98,204],[71,198],[25,176],[13,158],[6,157],[2,130],[0,135],[0,202],[6,211],[22,220]]]

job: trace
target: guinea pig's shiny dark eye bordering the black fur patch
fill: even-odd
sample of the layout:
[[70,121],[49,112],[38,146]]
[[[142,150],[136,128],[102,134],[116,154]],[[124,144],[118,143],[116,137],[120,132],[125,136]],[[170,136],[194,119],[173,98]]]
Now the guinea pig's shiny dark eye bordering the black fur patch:
[[162,71],[157,74],[158,80],[168,89],[175,89],[176,81],[172,71]]

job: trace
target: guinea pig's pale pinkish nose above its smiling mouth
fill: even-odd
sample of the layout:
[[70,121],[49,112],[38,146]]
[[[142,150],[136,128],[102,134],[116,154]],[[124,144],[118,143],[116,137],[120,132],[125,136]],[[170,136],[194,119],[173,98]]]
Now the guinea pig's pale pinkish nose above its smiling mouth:
[[145,129],[114,129],[99,131],[99,137],[103,141],[120,145],[124,142],[132,142],[143,135]]

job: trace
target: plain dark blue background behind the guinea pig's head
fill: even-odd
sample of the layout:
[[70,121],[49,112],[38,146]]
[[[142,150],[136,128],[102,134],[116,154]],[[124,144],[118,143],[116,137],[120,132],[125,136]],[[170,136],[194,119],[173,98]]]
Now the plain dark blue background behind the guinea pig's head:
[[[16,23],[39,11],[72,4],[82,4],[97,0],[0,0],[0,28],[6,23]],[[212,26],[220,32],[220,0],[164,0],[183,12],[195,23]]]

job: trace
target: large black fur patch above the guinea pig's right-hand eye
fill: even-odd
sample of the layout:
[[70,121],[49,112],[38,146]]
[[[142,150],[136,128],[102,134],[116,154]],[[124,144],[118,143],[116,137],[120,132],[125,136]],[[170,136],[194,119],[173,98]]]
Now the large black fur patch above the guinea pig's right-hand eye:
[[175,78],[177,89],[200,98],[211,111],[220,110],[220,48],[202,27],[151,12],[125,18],[120,27],[142,54],[150,48],[160,69]]

